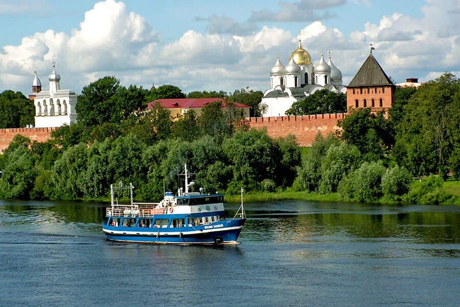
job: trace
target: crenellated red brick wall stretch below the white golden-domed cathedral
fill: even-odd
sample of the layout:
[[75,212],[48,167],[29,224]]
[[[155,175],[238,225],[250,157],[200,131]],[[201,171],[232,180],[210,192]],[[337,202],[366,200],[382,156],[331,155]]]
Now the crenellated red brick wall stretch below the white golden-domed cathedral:
[[317,114],[304,116],[252,117],[249,118],[251,127],[266,128],[272,138],[285,138],[293,135],[300,146],[311,146],[315,136],[323,136],[338,129],[337,120],[343,119],[346,114]]

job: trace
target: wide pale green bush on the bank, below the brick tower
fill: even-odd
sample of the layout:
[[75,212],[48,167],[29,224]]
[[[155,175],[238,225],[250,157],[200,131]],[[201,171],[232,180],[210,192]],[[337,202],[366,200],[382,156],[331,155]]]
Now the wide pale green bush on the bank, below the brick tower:
[[363,162],[347,178],[342,179],[338,192],[344,199],[366,203],[376,202],[383,195],[381,183],[385,170],[380,162]]

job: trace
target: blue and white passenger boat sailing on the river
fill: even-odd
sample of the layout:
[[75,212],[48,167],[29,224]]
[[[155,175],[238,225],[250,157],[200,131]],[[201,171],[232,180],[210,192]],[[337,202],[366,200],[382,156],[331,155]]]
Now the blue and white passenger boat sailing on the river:
[[[102,223],[107,239],[153,244],[236,244],[246,222],[243,189],[237,213],[226,219],[223,194],[205,194],[202,188],[200,192],[189,192],[194,183],[189,184],[187,164],[181,175],[185,176],[185,191],[180,188],[176,196],[165,192],[159,203],[133,202],[131,183],[110,185],[111,206],[106,208],[107,220]],[[129,190],[129,204],[118,204],[114,192],[119,190]]]

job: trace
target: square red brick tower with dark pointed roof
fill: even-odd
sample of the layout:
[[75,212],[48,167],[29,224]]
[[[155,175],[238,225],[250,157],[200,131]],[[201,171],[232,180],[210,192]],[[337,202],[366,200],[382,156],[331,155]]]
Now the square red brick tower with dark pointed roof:
[[371,54],[347,86],[347,109],[370,107],[372,112],[388,110],[395,100],[396,85]]

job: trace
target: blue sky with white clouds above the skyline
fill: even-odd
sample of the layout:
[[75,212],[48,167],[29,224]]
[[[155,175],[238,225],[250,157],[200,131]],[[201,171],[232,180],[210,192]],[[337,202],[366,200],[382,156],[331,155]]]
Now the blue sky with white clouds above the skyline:
[[0,92],[43,90],[53,60],[61,89],[100,77],[183,92],[264,91],[298,39],[348,84],[369,55],[396,82],[460,76],[460,0],[0,0]]

